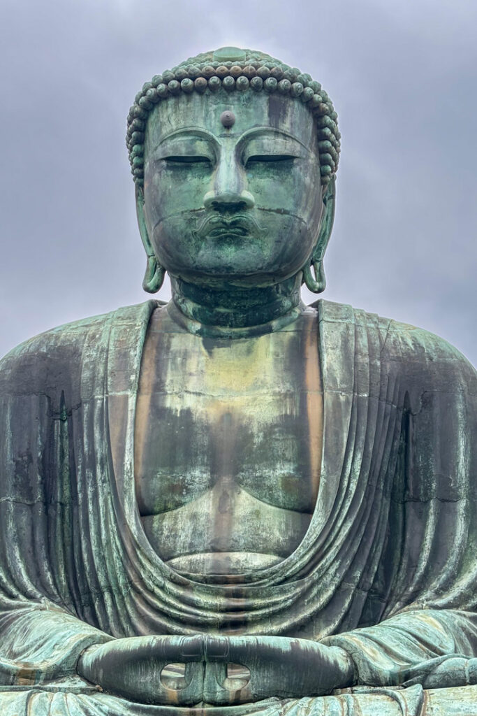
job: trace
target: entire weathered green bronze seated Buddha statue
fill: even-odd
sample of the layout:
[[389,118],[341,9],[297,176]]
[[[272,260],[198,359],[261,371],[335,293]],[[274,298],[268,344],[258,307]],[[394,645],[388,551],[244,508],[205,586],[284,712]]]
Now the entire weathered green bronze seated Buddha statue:
[[3,716],[477,714],[476,372],[328,301],[340,150],[249,50],[144,85],[150,300],[0,369]]

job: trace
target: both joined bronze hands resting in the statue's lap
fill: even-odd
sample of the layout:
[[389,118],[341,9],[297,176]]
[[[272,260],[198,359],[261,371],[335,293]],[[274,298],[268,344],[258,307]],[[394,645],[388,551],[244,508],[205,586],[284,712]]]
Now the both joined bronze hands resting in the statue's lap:
[[[184,684],[161,677],[185,664]],[[241,664],[250,678],[227,677]],[[239,704],[267,697],[319,696],[353,681],[353,661],[340,647],[288,637],[132,637],[89,647],[77,671],[129,700],[172,705]]]

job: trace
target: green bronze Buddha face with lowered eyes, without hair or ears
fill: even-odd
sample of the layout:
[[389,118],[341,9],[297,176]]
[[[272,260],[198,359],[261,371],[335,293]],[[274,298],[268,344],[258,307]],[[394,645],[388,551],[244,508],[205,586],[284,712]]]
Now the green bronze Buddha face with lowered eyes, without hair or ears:
[[182,93],[149,115],[144,158],[145,223],[169,274],[265,286],[310,258],[323,202],[313,117],[299,101]]

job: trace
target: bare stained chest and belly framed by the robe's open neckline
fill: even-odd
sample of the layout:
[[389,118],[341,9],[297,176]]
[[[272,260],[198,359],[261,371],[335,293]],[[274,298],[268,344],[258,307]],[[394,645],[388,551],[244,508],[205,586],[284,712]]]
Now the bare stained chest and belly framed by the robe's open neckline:
[[202,339],[157,311],[135,440],[139,512],[154,549],[198,574],[288,556],[315,506],[322,431],[314,311],[286,331],[240,340]]

